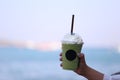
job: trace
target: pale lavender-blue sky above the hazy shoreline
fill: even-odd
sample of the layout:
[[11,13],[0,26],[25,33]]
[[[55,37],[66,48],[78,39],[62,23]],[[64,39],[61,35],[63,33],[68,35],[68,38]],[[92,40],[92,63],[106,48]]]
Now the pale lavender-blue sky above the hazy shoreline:
[[0,0],[0,39],[60,42],[70,32],[85,46],[120,45],[120,0]]

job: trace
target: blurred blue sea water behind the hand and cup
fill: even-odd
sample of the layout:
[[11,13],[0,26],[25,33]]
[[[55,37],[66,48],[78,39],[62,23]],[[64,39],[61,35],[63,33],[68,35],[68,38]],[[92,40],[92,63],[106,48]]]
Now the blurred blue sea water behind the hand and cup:
[[[0,47],[0,80],[86,80],[60,67],[60,52]],[[120,71],[120,53],[115,49],[84,48],[82,52],[92,68],[108,75]]]

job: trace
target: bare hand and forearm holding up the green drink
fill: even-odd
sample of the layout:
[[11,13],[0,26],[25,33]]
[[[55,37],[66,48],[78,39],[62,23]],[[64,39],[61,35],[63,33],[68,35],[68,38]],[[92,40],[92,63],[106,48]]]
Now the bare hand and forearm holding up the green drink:
[[[61,55],[62,54],[60,54],[60,56]],[[86,64],[84,54],[81,53],[78,57],[80,58],[80,65],[74,71],[75,73],[87,78],[88,80],[103,80],[104,74],[89,67]],[[60,60],[62,61],[62,57],[60,58]],[[61,66],[62,66],[62,64],[61,64]]]

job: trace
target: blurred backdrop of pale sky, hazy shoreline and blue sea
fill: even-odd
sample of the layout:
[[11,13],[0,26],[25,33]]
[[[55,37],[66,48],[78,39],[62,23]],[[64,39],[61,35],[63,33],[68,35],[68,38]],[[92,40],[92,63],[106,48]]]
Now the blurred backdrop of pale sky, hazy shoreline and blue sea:
[[0,0],[0,80],[85,80],[59,66],[61,40],[74,32],[87,64],[120,71],[119,0]]

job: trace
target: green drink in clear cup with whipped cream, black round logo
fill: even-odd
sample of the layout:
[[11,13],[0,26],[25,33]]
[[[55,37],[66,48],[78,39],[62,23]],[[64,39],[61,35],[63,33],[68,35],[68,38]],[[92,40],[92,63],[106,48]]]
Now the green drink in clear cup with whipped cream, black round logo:
[[[74,17],[73,17],[74,18]],[[72,19],[73,23],[73,19]],[[73,33],[66,34],[62,40],[62,67],[67,70],[75,70],[79,65],[78,54],[81,52],[83,41],[81,37]]]

